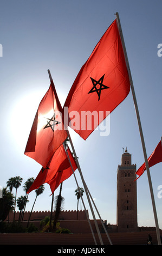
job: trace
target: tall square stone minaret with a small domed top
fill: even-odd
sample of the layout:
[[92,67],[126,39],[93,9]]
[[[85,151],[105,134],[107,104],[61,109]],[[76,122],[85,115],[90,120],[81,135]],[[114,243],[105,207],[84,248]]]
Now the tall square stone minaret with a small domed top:
[[136,164],[132,164],[131,154],[121,156],[117,170],[117,220],[118,232],[137,231],[137,182]]

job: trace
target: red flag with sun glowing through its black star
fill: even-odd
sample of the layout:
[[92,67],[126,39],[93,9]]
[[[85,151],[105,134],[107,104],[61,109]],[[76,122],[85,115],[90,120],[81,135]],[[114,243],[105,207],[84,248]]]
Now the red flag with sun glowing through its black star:
[[46,168],[54,152],[66,138],[62,107],[54,83],[51,81],[47,93],[38,106],[24,154]]

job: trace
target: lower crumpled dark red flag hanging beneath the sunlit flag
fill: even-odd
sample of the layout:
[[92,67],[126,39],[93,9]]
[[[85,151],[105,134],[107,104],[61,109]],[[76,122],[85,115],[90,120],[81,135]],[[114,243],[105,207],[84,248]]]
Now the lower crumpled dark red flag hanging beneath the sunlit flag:
[[[70,151],[70,149],[67,149],[70,162],[72,163],[73,170],[75,171],[77,168],[76,162],[74,160],[74,157]],[[70,175],[72,175],[73,170],[70,166],[70,162],[68,160],[66,151],[64,150],[63,144],[57,149],[49,161],[46,168],[43,168],[38,173],[36,179],[34,180],[33,184],[27,191],[27,193],[30,193],[33,190],[36,190],[38,187],[40,187],[42,184],[49,182],[50,180],[53,180],[56,183],[56,186],[59,186],[59,184],[63,181],[69,178]]]

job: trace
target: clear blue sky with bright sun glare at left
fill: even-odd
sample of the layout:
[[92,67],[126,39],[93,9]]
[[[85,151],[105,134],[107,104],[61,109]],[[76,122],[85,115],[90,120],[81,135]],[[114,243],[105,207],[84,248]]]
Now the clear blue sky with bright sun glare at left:
[[[47,70],[51,72],[63,106],[81,66],[115,20],[116,12],[120,16],[147,156],[150,156],[162,135],[162,57],[158,56],[158,45],[162,44],[162,2],[1,0],[0,4],[0,185],[6,187],[11,177],[21,176],[23,181],[17,197],[25,195],[25,181],[36,178],[41,169],[40,164],[24,155],[24,150],[38,105],[49,88]],[[100,136],[98,129],[86,141],[74,131],[69,132],[101,218],[116,224],[116,175],[122,148],[127,147],[137,169],[144,163],[132,92],[111,113],[109,124],[108,136]],[[162,229],[162,198],[158,197],[161,170],[162,163],[150,168],[158,223]],[[78,170],[75,175],[79,186],[83,187]],[[50,211],[51,191],[48,184],[44,187],[34,211]],[[76,188],[73,175],[63,182],[63,210],[76,210]],[[57,194],[59,188],[54,195]],[[31,210],[35,196],[35,191],[29,194],[27,211]],[[86,194],[83,200],[92,218]],[[138,226],[155,227],[146,172],[137,180],[137,203]],[[83,210],[81,200],[79,209]]]

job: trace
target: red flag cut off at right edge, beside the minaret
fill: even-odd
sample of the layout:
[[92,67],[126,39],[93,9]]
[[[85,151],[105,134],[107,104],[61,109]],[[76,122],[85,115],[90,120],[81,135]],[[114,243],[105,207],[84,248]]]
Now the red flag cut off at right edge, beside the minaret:
[[[148,166],[152,167],[155,164],[160,163],[160,162],[162,162],[162,145],[161,145],[161,141],[159,142],[157,147],[154,149],[154,151],[151,154],[151,156],[148,157]],[[137,170],[137,172],[135,174],[139,175],[139,177],[140,177],[145,172],[145,170],[146,170],[146,164],[143,163],[142,166]]]

